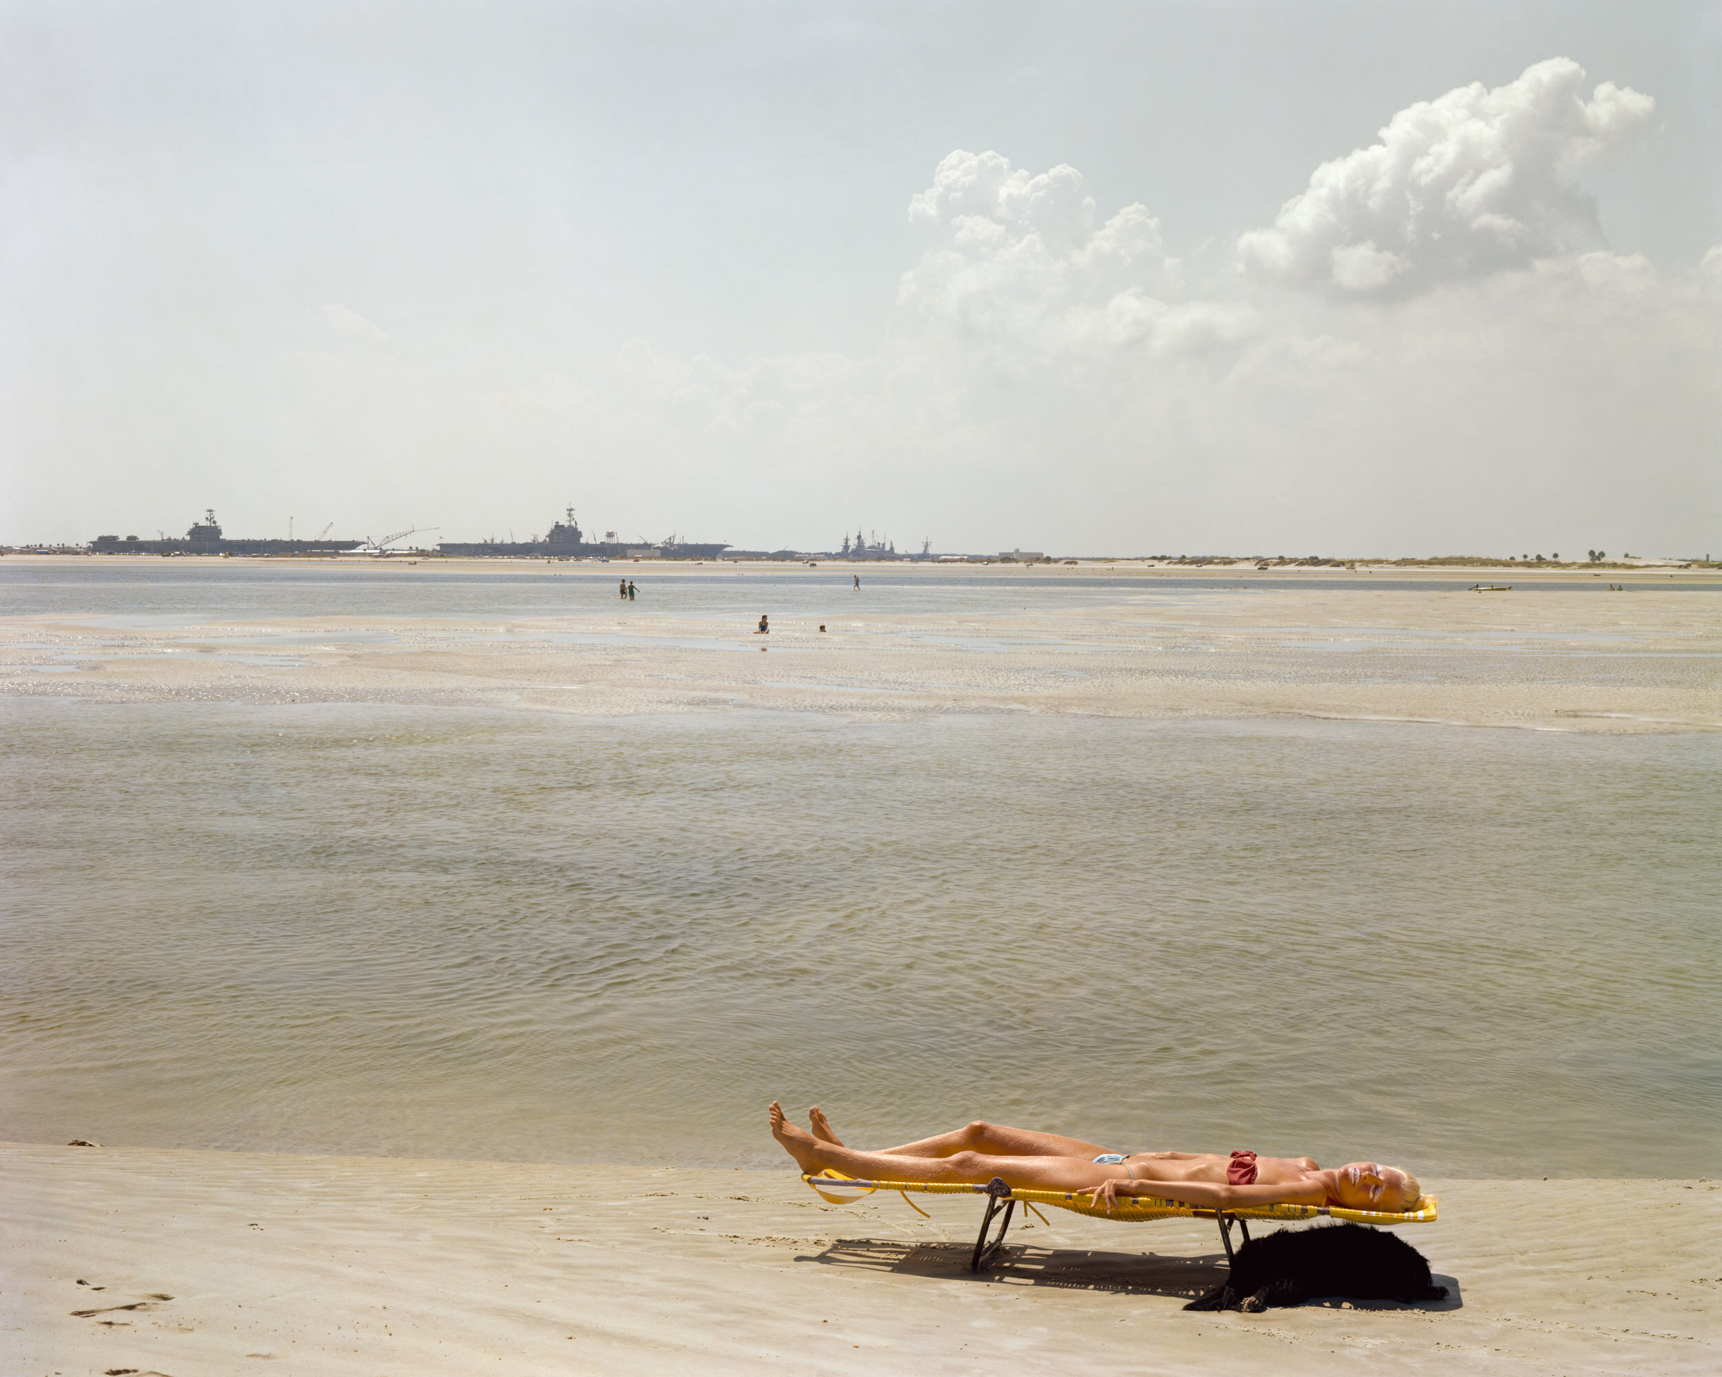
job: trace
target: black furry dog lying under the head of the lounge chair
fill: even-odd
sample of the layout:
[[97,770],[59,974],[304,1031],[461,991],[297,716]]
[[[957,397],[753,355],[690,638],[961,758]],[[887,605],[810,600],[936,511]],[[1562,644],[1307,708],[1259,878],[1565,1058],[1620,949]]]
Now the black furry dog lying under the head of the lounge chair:
[[1252,1238],[1231,1275],[1185,1310],[1267,1310],[1316,1296],[1359,1301],[1440,1301],[1446,1287],[1429,1281],[1429,1262],[1397,1234],[1362,1224],[1281,1229]]

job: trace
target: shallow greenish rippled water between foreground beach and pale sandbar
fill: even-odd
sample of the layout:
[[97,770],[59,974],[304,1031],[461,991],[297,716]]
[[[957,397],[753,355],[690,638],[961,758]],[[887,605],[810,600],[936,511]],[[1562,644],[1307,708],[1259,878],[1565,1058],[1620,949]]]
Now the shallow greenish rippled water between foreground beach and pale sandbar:
[[[126,606],[174,611],[77,609]],[[1717,735],[29,699],[0,730],[0,1138],[787,1165],[782,1098],[863,1146],[988,1117],[1722,1172]]]

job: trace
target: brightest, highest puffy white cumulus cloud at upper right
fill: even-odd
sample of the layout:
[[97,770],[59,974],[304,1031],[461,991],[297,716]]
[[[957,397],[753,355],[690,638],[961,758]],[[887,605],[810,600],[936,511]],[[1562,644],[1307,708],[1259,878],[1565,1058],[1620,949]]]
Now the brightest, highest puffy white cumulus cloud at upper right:
[[1481,83],[1400,110],[1381,141],[1316,169],[1273,229],[1243,234],[1259,279],[1340,294],[1415,291],[1603,248],[1588,157],[1643,131],[1655,102],[1565,57],[1493,91]]

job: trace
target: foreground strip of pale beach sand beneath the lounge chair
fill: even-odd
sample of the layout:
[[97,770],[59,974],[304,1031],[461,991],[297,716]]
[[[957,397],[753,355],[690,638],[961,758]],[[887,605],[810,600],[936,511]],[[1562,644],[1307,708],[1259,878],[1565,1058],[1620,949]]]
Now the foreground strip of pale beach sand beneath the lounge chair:
[[1441,1220],[1403,1232],[1448,1303],[1211,1315],[1181,1310],[1223,1275],[1200,1222],[1050,1212],[975,1277],[978,1201],[839,1208],[789,1172],[50,1146],[0,1167],[7,1374],[1722,1370],[1710,1182],[1431,1182]]

